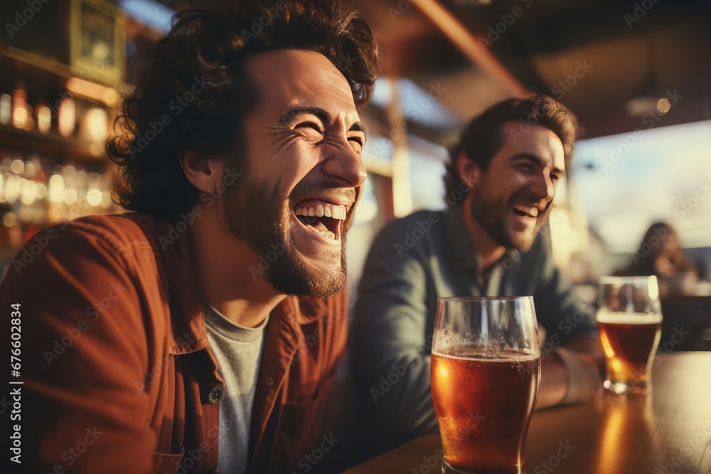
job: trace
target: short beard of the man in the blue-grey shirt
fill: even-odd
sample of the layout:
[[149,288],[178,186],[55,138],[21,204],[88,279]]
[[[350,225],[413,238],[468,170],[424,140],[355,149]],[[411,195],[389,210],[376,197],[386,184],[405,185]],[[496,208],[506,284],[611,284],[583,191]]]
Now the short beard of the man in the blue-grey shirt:
[[515,203],[530,203],[535,199],[530,198],[525,191],[520,191],[511,195],[506,203],[501,205],[500,201],[495,198],[488,198],[491,193],[488,193],[486,189],[477,189],[475,187],[471,192],[474,193],[471,200],[471,217],[474,217],[474,220],[479,223],[494,242],[507,249],[515,249],[519,252],[527,252],[533,246],[538,230],[540,230],[550,212],[550,205],[547,206],[545,211],[539,213],[533,229],[515,231],[508,225],[510,210]]

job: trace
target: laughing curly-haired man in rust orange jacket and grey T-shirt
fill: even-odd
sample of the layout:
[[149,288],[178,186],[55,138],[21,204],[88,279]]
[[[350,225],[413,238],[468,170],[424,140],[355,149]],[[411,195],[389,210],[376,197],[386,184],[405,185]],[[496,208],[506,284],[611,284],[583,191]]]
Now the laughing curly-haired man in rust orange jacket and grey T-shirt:
[[340,2],[227,5],[137,66],[107,142],[129,212],[50,227],[1,285],[22,468],[314,472],[338,443],[373,36]]

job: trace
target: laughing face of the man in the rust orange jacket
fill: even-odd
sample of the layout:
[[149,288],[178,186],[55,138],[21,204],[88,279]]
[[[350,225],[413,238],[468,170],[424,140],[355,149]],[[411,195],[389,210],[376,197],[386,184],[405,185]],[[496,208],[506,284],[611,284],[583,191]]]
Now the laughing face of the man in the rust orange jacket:
[[275,289],[326,298],[346,282],[346,231],[365,181],[351,88],[313,51],[260,53],[246,68],[260,97],[242,125],[246,170],[225,220],[255,259],[271,257]]

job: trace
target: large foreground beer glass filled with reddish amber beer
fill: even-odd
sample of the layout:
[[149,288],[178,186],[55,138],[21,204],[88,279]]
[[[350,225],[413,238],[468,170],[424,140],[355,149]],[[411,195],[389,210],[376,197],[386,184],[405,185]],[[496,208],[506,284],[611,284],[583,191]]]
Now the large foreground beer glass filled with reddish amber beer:
[[539,379],[533,297],[439,298],[432,399],[442,473],[525,473]]

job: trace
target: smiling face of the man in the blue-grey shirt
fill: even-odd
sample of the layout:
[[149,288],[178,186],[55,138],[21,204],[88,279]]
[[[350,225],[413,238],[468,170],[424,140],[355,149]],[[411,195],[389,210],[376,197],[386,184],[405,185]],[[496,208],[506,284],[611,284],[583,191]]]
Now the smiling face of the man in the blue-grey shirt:
[[476,168],[471,217],[496,245],[526,251],[550,213],[556,183],[565,176],[565,155],[549,129],[532,126],[520,136],[518,128],[504,124],[503,147],[486,171]]

